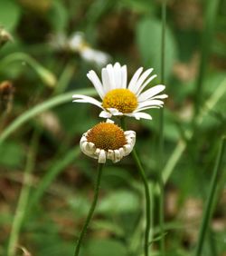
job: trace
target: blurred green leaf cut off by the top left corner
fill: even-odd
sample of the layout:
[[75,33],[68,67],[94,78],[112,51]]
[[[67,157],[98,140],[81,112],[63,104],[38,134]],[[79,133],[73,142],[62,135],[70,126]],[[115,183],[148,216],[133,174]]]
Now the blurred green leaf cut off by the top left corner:
[[1,0],[0,2],[0,25],[6,30],[13,31],[17,25],[21,9],[12,0]]

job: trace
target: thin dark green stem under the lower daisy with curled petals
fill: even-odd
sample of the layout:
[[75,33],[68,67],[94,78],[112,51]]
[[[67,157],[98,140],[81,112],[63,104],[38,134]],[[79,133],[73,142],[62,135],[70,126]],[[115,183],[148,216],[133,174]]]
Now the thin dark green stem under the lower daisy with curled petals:
[[103,163],[99,163],[99,165],[98,165],[98,177],[97,177],[97,181],[96,181],[95,194],[94,194],[93,202],[92,202],[92,205],[91,205],[91,207],[89,209],[89,213],[88,213],[86,222],[84,223],[83,228],[80,231],[80,236],[79,236],[79,239],[77,241],[77,245],[76,245],[76,249],[75,249],[75,253],[74,253],[75,256],[78,256],[79,253],[80,253],[81,241],[82,241],[84,235],[86,234],[87,228],[89,226],[89,222],[90,222],[90,220],[92,218],[93,212],[94,212],[94,210],[96,208],[96,204],[98,202],[100,179],[101,179],[101,175],[102,175],[103,166],[104,166]]

